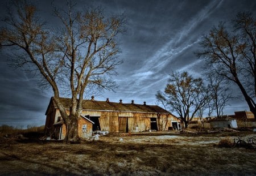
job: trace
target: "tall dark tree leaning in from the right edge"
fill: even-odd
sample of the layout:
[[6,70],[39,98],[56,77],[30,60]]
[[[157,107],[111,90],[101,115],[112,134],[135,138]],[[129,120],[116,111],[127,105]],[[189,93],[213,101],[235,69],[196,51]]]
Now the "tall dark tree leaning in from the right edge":
[[249,12],[239,13],[233,31],[224,23],[213,27],[204,36],[197,52],[209,70],[231,81],[240,88],[256,119],[256,20]]

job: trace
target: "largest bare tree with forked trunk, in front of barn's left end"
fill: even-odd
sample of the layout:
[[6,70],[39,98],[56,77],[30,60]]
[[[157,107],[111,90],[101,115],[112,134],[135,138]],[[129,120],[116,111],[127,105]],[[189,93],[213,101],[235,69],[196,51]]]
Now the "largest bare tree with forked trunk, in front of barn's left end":
[[[61,26],[47,28],[39,18],[38,9],[27,1],[15,1],[0,31],[0,44],[18,49],[13,55],[16,67],[26,67],[42,76],[42,85],[52,88],[53,101],[67,127],[65,141],[77,141],[78,119],[86,88],[92,85],[113,89],[110,79],[115,67],[122,63],[115,38],[124,32],[125,20],[118,16],[105,18],[100,8],[84,12],[67,2],[67,11],[54,8]],[[56,31],[56,32],[54,32]],[[69,113],[60,95],[69,92]]]

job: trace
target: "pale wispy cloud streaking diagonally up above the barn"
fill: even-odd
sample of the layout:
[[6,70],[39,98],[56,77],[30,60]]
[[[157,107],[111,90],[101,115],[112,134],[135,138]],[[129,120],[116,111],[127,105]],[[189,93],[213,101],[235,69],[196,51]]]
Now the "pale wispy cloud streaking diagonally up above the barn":
[[[181,27],[180,32],[171,36],[171,40],[160,48],[154,55],[146,58],[142,67],[134,70],[130,76],[126,77],[126,82],[130,82],[128,91],[133,92],[130,96],[142,94],[144,92],[152,92],[152,88],[161,88],[166,84],[167,74],[163,74],[163,68],[170,65],[170,63],[179,59],[179,55],[184,53],[187,49],[200,42],[201,33],[198,33],[196,28],[216,9],[222,1],[211,1],[202,10],[197,12],[193,18]],[[191,35],[193,33],[193,35]],[[184,63],[180,71],[187,70],[195,66],[195,63]],[[123,80],[124,81],[124,80]]]

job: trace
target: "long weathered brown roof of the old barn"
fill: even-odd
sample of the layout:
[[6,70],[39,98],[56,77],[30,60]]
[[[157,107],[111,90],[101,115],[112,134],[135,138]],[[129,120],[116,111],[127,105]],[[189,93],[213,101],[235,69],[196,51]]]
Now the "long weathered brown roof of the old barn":
[[[60,98],[65,109],[69,109],[71,104],[71,98]],[[49,102],[46,114],[49,106],[53,103],[55,109],[57,105],[53,102],[53,98]],[[138,113],[162,113],[171,114],[169,111],[156,105],[141,105],[141,104],[120,104],[119,102],[106,102],[96,100],[84,100],[82,105],[83,110],[94,110],[94,111],[123,111],[123,112],[138,112]]]

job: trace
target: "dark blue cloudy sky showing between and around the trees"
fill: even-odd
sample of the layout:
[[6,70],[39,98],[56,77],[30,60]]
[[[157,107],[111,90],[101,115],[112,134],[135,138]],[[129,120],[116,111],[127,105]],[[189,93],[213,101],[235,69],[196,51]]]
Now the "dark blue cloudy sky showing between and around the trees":
[[[7,0],[1,1],[0,16],[5,16]],[[41,18],[58,24],[52,14],[52,1],[35,1]],[[200,49],[202,35],[218,25],[229,24],[237,12],[250,11],[255,16],[256,1],[76,1],[77,8],[101,6],[106,14],[124,14],[127,32],[118,37],[123,64],[117,67],[113,79],[118,88],[94,95],[96,100],[155,105],[155,94],[163,91],[172,71],[188,71],[201,76],[203,63],[194,52]],[[62,1],[55,1],[63,6]],[[44,115],[53,93],[42,90],[37,78],[8,65],[7,50],[0,50],[0,125],[26,128],[44,125]],[[240,91],[234,87],[237,95]],[[243,98],[230,102],[224,114],[249,110]],[[174,112],[172,112],[175,114]],[[177,115],[177,114],[175,114]]]

